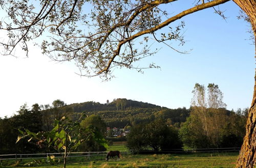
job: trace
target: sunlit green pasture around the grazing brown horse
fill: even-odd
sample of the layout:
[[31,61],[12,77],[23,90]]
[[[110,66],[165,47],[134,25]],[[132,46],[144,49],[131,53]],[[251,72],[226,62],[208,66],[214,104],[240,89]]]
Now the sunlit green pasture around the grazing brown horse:
[[[126,150],[124,143],[114,143],[108,150]],[[148,154],[148,155],[123,155],[117,161],[105,161],[105,156],[91,158],[84,157],[68,159],[67,167],[234,167],[238,153],[190,153],[190,154]],[[24,167],[29,162],[24,160],[18,164],[14,161],[3,161],[2,167]],[[57,165],[43,163],[34,167],[62,167],[62,162]],[[30,166],[30,167],[33,167]],[[1,167],[1,166],[0,166]]]

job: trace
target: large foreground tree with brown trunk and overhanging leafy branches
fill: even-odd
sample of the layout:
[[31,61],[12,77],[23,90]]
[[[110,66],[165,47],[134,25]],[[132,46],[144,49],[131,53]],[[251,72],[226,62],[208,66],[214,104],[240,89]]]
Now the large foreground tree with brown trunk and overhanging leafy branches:
[[[183,37],[179,35],[180,29],[184,26],[182,22],[167,34],[157,34],[162,27],[191,13],[230,0],[209,0],[207,3],[196,1],[198,2],[196,6],[193,5],[173,16],[167,15],[167,12],[159,7],[176,1],[178,0],[0,1],[3,11],[7,11],[8,14],[8,17],[2,20],[0,27],[8,31],[10,38],[2,44],[6,48],[6,54],[13,54],[13,49],[18,46],[27,52],[29,40],[40,37],[45,32],[47,35],[51,33],[49,40],[42,41],[41,48],[44,53],[49,54],[54,60],[76,61],[83,75],[101,75],[109,79],[112,70],[117,66],[136,68],[140,71],[141,69],[134,63],[154,53],[154,51],[150,52],[147,45],[151,38],[162,43],[168,40],[184,43]],[[233,2],[248,15],[255,38],[256,1],[233,0]],[[89,14],[83,13],[86,11],[84,6],[92,7]],[[221,11],[216,10],[216,12],[223,16]],[[167,19],[162,20],[162,15],[167,16]],[[84,29],[85,27],[88,29]],[[141,39],[141,44],[145,44],[144,47],[135,45],[136,39]],[[54,54],[56,52],[57,54]],[[157,68],[154,64],[148,66],[148,68],[154,67]],[[237,161],[238,167],[253,167],[256,160],[255,104],[256,78],[246,126],[247,133]]]

